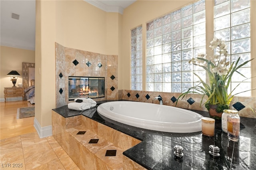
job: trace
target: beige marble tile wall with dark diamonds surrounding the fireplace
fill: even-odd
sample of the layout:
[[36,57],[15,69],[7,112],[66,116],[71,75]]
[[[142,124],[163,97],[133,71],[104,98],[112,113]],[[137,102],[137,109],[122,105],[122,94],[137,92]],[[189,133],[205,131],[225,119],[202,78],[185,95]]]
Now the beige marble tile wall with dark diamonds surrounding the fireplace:
[[118,99],[118,56],[64,47],[55,43],[56,107],[67,105],[68,76],[105,77],[105,97]]

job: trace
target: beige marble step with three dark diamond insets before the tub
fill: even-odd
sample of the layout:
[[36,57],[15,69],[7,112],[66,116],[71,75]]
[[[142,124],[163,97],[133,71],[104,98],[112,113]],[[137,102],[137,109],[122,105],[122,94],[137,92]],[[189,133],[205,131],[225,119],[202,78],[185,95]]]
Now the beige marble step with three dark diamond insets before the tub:
[[66,129],[70,158],[81,169],[122,169],[124,150],[86,127]]

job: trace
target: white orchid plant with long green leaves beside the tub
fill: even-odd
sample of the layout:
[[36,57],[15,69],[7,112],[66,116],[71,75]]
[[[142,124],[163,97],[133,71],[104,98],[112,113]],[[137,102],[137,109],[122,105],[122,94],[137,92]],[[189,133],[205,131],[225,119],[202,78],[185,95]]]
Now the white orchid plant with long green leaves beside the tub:
[[243,61],[240,65],[238,65],[238,63],[242,60],[239,57],[237,61],[230,63],[230,61],[227,61],[229,54],[226,49],[226,44],[224,41],[218,38],[214,38],[210,42],[209,47],[211,47],[212,50],[215,50],[216,55],[206,59],[207,54],[198,53],[196,58],[189,61],[194,65],[202,67],[206,71],[208,81],[205,82],[199,75],[194,73],[194,75],[200,80],[199,84],[187,89],[178,97],[178,99],[180,99],[180,97],[184,98],[188,93],[198,93],[202,95],[200,105],[202,105],[204,97],[207,96],[208,99],[204,103],[206,108],[209,110],[209,105],[220,105],[217,112],[222,112],[223,109],[229,109],[230,102],[232,101],[234,95],[239,94],[232,94],[239,84],[232,89],[231,92],[228,91],[232,75],[236,72],[247,79],[242,73],[239,72],[239,69],[248,62],[252,61],[252,59]]

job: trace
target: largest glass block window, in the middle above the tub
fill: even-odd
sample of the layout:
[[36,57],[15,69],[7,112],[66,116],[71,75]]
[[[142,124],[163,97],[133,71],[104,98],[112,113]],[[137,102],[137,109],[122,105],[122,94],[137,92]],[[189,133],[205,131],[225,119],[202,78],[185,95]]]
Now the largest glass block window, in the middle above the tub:
[[148,22],[146,30],[146,90],[182,92],[196,85],[201,68],[188,61],[205,53],[206,24],[204,0],[185,6]]

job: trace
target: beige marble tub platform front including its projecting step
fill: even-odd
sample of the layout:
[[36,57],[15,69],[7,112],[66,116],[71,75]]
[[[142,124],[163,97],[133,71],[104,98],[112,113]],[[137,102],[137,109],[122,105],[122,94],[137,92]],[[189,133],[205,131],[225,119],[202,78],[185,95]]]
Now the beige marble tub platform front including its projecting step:
[[[80,169],[145,170],[122,154],[124,150],[140,143],[140,140],[83,115],[74,117],[64,118],[52,111],[52,134]],[[78,135],[79,131],[86,133]],[[98,138],[99,142],[88,144],[92,138]],[[117,150],[116,156],[104,156],[106,150]]]

